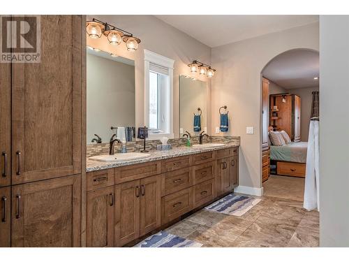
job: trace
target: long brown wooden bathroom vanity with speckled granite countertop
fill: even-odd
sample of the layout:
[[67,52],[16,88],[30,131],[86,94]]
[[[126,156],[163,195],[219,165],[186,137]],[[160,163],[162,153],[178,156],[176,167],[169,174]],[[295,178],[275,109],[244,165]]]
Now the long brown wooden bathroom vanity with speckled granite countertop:
[[135,161],[87,159],[87,247],[122,247],[229,194],[239,143],[176,147]]

